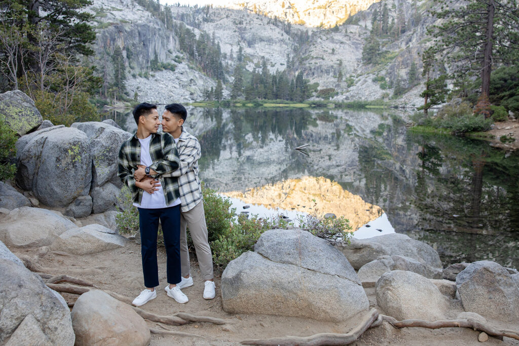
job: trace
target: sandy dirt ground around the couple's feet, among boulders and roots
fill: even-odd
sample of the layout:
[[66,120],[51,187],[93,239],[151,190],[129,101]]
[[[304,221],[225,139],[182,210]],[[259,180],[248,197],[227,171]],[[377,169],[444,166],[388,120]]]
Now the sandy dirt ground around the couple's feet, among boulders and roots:
[[[17,255],[28,255],[34,257],[35,250],[10,249]],[[265,339],[281,337],[286,335],[310,336],[317,333],[348,333],[358,322],[350,320],[344,323],[323,322],[298,317],[270,316],[270,315],[248,315],[228,314],[222,309],[220,295],[221,271],[216,270],[216,298],[205,300],[202,297],[203,282],[200,279],[198,265],[195,255],[192,254],[192,275],[194,286],[183,289],[188,296],[189,302],[182,305],[169,298],[164,291],[166,286],[166,253],[159,248],[159,280],[157,298],[142,306],[146,311],[160,315],[170,315],[176,312],[187,312],[194,315],[205,315],[220,318],[228,318],[230,324],[213,325],[210,323],[193,323],[185,326],[165,326],[148,322],[149,327],[158,329],[167,328],[175,331],[183,331],[195,334],[199,337],[179,337],[152,335],[151,345],[234,345],[247,339]],[[68,274],[81,278],[97,285],[101,289],[112,290],[118,294],[129,297],[130,300],[137,296],[143,287],[141,270],[140,245],[133,241],[127,246],[106,251],[95,255],[71,256],[63,253],[46,253],[40,256],[39,264],[43,267],[52,268],[50,274]],[[370,308],[375,307],[376,297],[374,288],[366,288],[366,294],[370,300]],[[76,295],[63,294],[67,302],[74,302]],[[455,302],[455,301],[453,301]],[[380,309],[378,309],[380,311]],[[461,307],[452,306],[455,317]],[[508,327],[495,324],[499,327]],[[519,325],[514,330],[519,329]],[[355,345],[474,345],[479,344],[477,333],[467,328],[404,328],[394,329],[384,323],[380,327],[368,329]],[[505,338],[499,341],[489,338],[487,345],[519,345],[519,341]]]

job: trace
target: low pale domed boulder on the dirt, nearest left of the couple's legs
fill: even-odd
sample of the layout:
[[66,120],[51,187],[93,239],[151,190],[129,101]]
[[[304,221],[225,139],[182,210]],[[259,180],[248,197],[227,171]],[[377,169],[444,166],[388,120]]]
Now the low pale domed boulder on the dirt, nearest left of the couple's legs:
[[54,250],[73,255],[87,255],[125,246],[127,239],[97,224],[70,229],[52,244]]

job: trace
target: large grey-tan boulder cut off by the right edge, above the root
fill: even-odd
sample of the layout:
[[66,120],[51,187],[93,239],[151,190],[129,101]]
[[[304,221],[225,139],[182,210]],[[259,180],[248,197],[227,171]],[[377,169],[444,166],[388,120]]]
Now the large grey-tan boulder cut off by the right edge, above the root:
[[456,276],[456,286],[465,311],[503,322],[519,321],[519,287],[496,262],[473,262]]

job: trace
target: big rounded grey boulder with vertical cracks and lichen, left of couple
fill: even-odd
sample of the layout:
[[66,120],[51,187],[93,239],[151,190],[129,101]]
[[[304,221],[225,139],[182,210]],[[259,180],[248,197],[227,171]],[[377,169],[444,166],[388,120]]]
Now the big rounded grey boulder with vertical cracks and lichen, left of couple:
[[67,206],[77,197],[88,195],[92,156],[87,135],[75,128],[47,128],[37,132],[19,148],[18,185],[31,190],[40,202],[49,206]]

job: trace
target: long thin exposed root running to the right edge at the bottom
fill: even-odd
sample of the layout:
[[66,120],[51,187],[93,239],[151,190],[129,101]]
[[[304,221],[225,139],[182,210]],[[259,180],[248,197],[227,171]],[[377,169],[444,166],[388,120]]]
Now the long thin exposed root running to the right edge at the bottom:
[[390,325],[395,328],[406,328],[406,327],[421,327],[421,328],[429,328],[429,329],[438,329],[438,328],[470,328],[474,330],[484,331],[486,334],[497,337],[497,338],[512,338],[515,340],[519,340],[519,333],[514,330],[507,329],[498,329],[488,323],[484,323],[481,321],[476,321],[473,319],[466,320],[445,320],[445,321],[424,321],[424,320],[404,320],[397,321],[394,317],[380,315],[379,317],[383,321],[387,321]]

